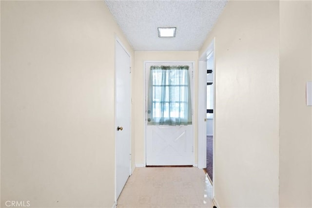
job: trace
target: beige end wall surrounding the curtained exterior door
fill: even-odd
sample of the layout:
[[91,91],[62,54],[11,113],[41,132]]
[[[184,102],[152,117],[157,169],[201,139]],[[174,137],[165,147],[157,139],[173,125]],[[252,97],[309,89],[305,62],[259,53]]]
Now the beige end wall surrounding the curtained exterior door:
[[[194,131],[195,142],[197,147],[197,63],[198,52],[197,51],[155,51],[155,52],[135,52],[135,78],[134,78],[134,99],[135,99],[135,145],[136,145],[136,164],[144,164],[144,61],[195,61],[195,75],[194,75],[194,92],[195,92],[195,108],[194,108]],[[197,152],[197,151],[195,151]],[[197,154],[195,153],[195,161],[197,161]]]

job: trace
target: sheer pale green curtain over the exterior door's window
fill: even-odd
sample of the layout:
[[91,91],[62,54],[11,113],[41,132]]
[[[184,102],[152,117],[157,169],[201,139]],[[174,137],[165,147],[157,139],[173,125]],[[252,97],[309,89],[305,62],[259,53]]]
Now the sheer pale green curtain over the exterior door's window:
[[192,124],[189,66],[151,66],[148,125]]

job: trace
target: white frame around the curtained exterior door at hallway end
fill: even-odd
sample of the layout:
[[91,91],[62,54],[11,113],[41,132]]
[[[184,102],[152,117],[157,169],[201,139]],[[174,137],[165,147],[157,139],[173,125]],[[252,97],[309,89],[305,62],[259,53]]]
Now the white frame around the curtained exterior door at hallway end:
[[[176,63],[189,63],[192,64],[192,86],[191,86],[191,95],[192,95],[192,120],[194,121],[194,103],[195,103],[195,96],[194,96],[194,76],[195,76],[195,61],[144,61],[143,62],[143,70],[144,70],[144,76],[143,76],[143,89],[144,89],[144,167],[146,167],[146,109],[147,109],[147,102],[146,102],[146,64],[147,63],[170,63],[170,65],[175,65]],[[193,166],[195,166],[195,131],[194,131],[194,124],[192,125],[192,139],[193,139]]]

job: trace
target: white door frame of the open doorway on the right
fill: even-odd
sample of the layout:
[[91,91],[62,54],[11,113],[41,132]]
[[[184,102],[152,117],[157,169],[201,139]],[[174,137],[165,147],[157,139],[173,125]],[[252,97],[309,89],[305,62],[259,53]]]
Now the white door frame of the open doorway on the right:
[[[206,168],[206,157],[207,157],[207,134],[206,134],[206,121],[204,120],[207,117],[206,109],[207,106],[204,103],[207,102],[207,89],[204,86],[207,86],[207,56],[214,52],[215,54],[215,38],[212,40],[210,45],[207,47],[205,52],[201,54],[198,59],[198,147],[197,147],[197,162],[198,168],[204,169]],[[214,70],[215,70],[215,56],[214,56]],[[215,178],[215,89],[217,86],[217,82],[215,79],[215,71],[214,71],[214,127],[213,127],[213,178]],[[204,96],[199,96],[204,95]],[[215,193],[215,180],[213,180],[213,197]]]

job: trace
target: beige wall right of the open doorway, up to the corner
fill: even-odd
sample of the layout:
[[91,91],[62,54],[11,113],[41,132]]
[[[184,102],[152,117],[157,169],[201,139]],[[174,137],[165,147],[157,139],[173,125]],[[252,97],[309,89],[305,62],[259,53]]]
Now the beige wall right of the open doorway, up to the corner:
[[215,199],[278,207],[278,1],[229,1],[215,37]]

